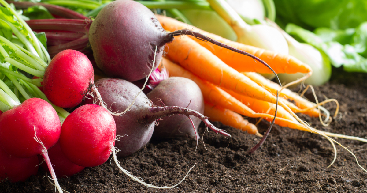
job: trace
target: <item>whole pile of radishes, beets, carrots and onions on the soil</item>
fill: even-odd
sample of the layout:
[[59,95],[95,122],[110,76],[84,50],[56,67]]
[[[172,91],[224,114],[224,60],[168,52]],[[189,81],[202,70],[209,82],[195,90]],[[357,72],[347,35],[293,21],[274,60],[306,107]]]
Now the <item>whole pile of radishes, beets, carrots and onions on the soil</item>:
[[[123,169],[117,158],[141,149],[152,136],[198,141],[196,128],[201,121],[214,132],[230,136],[208,118],[262,137],[248,153],[264,143],[273,124],[326,137],[334,147],[334,161],[334,143],[342,144],[330,137],[367,142],[312,128],[295,114],[320,117],[323,124],[324,118],[327,125],[332,118],[321,105],[337,103],[333,99],[312,103],[302,98],[303,93],[300,96],[286,88],[309,80],[313,73],[323,76],[322,83],[330,78],[323,44],[314,45],[319,50],[308,47],[309,53],[300,54],[309,45],[286,34],[293,27],[293,31],[302,31],[302,39],[308,34],[304,29],[289,25],[284,32],[273,21],[265,20],[248,25],[244,21],[255,20],[238,15],[223,0],[78,4],[86,6],[76,9],[85,15],[52,2],[58,1],[14,2],[17,8],[43,13],[42,18],[25,22],[24,15],[0,0],[4,6],[0,7],[1,180],[24,181],[36,172],[25,166],[38,165],[35,160],[39,160],[50,171],[57,190],[63,192],[57,178],[101,165],[112,154],[121,171],[134,181],[153,188],[173,188],[188,174],[174,186],[157,187]],[[182,14],[186,21],[185,11],[174,8],[177,5],[217,14],[235,34],[226,39],[149,10],[167,6],[168,12]],[[274,20],[271,4],[268,7],[268,17]],[[91,15],[95,18],[87,17]],[[264,40],[265,36],[269,40]],[[319,57],[314,63],[322,64],[313,68],[306,64],[310,53]],[[330,61],[333,64],[332,58]],[[326,72],[315,73],[315,68]],[[277,81],[278,73],[300,76],[281,86],[258,73],[273,73]],[[338,108],[334,118],[337,114]],[[271,122],[268,131],[263,136],[243,116]],[[13,170],[11,162],[23,164]]]

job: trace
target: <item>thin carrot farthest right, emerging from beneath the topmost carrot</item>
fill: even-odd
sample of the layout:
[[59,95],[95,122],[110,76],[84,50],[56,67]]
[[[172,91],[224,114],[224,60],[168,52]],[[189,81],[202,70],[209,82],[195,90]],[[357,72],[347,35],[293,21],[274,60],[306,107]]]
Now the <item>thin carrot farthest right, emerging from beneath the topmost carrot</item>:
[[[281,87],[277,83],[272,82],[272,81],[264,78],[264,76],[261,76],[257,73],[242,72],[242,74],[246,75],[248,78],[250,78],[252,81],[256,82],[258,85],[268,89],[273,94],[276,94],[276,91],[277,90],[279,91],[281,89]],[[312,109],[309,109],[307,111],[302,110],[302,108],[306,109],[306,108],[310,108],[310,107],[315,107],[315,105],[316,105],[315,103],[312,103],[312,102],[302,98],[301,96],[299,96],[298,94],[292,92],[291,90],[284,88],[283,90],[281,90],[279,96],[280,97],[285,97],[286,99],[293,100],[296,103],[296,106],[299,107],[299,108],[295,108],[294,106],[290,106],[290,108],[292,109],[293,112],[302,112],[302,113],[310,115],[312,117],[319,117],[320,112],[319,112],[319,110],[317,110],[317,108],[312,108]]]

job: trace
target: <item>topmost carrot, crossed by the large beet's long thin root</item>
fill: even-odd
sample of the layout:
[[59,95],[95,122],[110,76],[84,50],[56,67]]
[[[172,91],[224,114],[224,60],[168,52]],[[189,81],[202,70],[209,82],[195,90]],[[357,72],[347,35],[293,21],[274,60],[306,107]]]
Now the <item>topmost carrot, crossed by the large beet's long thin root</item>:
[[[308,65],[299,61],[295,57],[278,54],[273,51],[260,49],[254,46],[248,46],[238,42],[233,42],[221,36],[214,35],[212,33],[208,33],[200,29],[197,29],[192,25],[188,25],[183,22],[177,21],[176,19],[172,19],[162,15],[156,15],[156,17],[160,21],[163,28],[168,31],[175,31],[177,29],[191,29],[192,31],[200,32],[203,35],[206,35],[214,40],[217,40],[218,42],[222,42],[228,46],[235,47],[237,49],[246,51],[254,56],[257,56],[261,60],[264,60],[276,73],[294,74],[297,72],[301,73],[312,72],[312,69]],[[264,65],[258,64],[254,59],[250,57],[201,41],[199,39],[196,39],[195,37],[192,37],[192,39],[198,42],[201,46],[210,50],[215,56],[217,56],[223,62],[225,62],[230,67],[236,69],[239,72],[272,73],[269,70],[269,68],[265,67]]]

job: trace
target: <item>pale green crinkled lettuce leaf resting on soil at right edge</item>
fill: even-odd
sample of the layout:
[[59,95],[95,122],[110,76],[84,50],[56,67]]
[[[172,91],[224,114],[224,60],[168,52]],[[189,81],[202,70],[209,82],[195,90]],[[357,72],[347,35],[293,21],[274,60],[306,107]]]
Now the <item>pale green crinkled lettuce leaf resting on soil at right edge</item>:
[[334,67],[343,65],[348,72],[367,72],[367,22],[356,29],[331,30],[319,28],[315,33],[288,24],[286,32],[326,53]]

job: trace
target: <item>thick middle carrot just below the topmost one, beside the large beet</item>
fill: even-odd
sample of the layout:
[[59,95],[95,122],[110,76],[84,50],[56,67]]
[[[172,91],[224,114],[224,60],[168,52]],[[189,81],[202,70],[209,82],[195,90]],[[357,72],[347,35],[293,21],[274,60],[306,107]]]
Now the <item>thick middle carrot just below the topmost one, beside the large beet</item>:
[[236,93],[276,103],[276,97],[247,76],[226,65],[209,50],[187,36],[166,46],[166,57],[200,78]]

